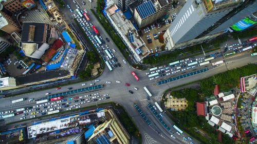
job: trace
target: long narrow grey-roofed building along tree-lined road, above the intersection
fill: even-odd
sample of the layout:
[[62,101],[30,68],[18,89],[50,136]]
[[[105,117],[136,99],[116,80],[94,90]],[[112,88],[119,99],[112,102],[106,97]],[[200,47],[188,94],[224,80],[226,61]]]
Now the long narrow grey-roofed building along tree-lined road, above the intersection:
[[145,46],[142,38],[138,35],[137,30],[126,19],[121,10],[118,10],[116,5],[110,5],[106,9],[106,16],[116,29],[117,33],[123,40],[123,43],[133,53],[136,63],[140,62],[144,57],[150,54],[150,51]]

